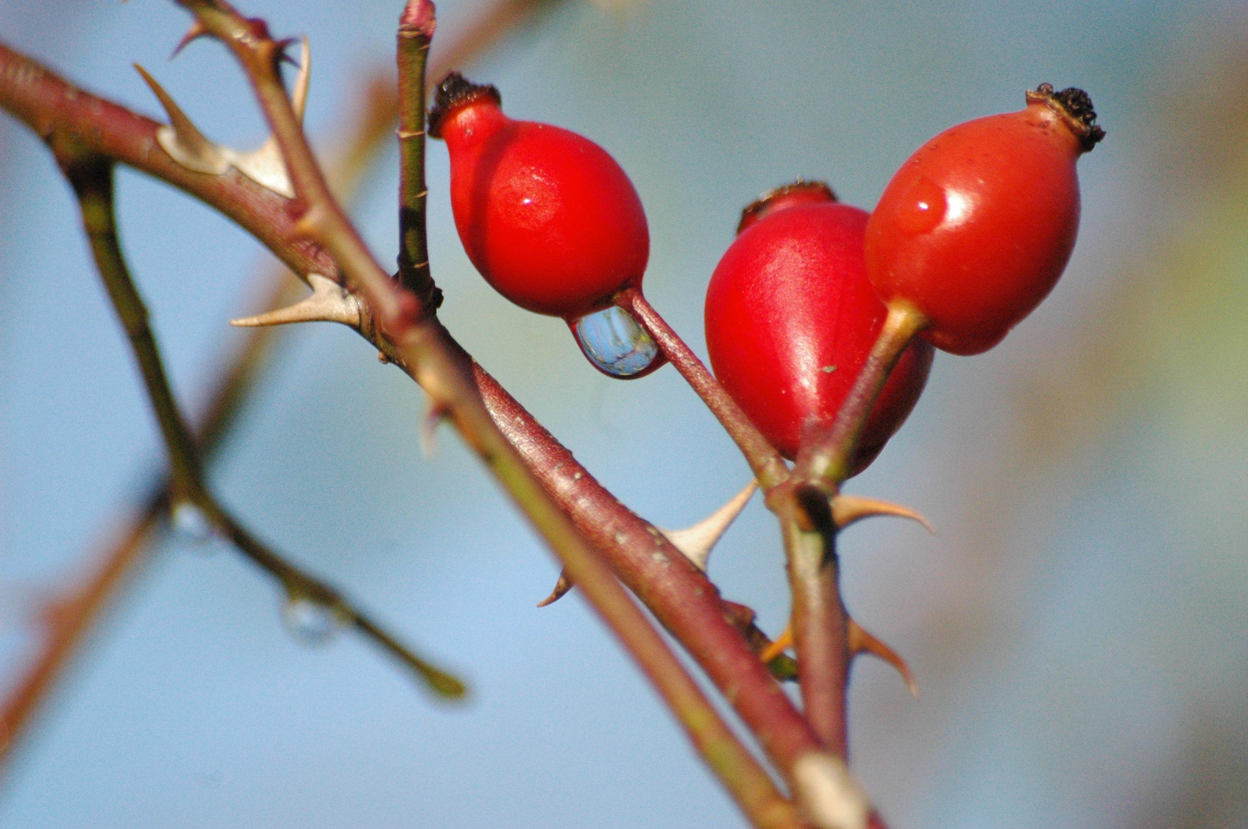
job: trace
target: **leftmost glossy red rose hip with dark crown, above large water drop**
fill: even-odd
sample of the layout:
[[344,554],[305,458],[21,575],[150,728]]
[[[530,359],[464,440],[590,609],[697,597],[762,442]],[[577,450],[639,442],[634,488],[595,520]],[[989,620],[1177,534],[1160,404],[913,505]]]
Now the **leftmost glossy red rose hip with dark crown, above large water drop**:
[[498,90],[452,74],[429,133],[451,153],[451,207],[468,258],[522,308],[574,320],[639,285],[650,252],[620,166],[568,130],[515,121]]

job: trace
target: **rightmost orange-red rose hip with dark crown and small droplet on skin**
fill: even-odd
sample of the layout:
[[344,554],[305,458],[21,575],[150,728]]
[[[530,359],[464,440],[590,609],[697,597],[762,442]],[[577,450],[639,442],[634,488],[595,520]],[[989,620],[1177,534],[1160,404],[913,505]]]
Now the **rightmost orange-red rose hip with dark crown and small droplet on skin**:
[[1104,132],[1081,90],[1041,85],[1018,112],[967,121],[919,148],[871,214],[866,263],[890,307],[926,318],[953,354],[997,343],[1052,290],[1080,223],[1075,163]]

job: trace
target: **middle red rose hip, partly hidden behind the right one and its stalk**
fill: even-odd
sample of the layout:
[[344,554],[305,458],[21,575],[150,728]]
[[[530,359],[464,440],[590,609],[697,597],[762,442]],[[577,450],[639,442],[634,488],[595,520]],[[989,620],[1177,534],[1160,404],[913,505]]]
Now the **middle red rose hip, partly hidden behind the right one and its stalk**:
[[[817,189],[822,188],[822,189]],[[854,385],[887,309],[866,278],[867,214],[800,182],[746,208],[745,229],[706,290],[715,376],[790,459],[806,429],[826,426]],[[852,474],[901,426],[927,381],[932,349],[901,357],[862,433]]]

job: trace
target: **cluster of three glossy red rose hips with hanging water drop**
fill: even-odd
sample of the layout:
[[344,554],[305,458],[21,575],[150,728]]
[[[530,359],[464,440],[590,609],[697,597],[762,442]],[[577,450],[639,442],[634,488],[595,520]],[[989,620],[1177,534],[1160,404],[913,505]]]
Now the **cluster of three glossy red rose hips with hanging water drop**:
[[[890,314],[919,338],[866,420],[851,474],[910,414],[932,347],[985,352],[1053,288],[1078,229],[1076,161],[1104,132],[1081,90],[1042,84],[1026,101],[920,147],[870,214],[804,181],[745,208],[708,287],[706,347],[718,380],[782,455],[836,418]],[[620,166],[579,135],[509,118],[494,87],[458,74],[438,89],[429,133],[447,142],[456,227],[482,276],[522,308],[568,320],[599,369],[658,368],[653,342],[615,304],[640,290],[649,258]]]

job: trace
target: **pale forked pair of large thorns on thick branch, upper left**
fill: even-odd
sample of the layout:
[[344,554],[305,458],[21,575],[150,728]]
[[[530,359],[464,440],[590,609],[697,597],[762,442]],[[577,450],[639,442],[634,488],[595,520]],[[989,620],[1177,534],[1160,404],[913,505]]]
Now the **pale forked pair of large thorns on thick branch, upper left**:
[[[178,44],[178,50],[185,42],[186,39]],[[282,152],[275,136],[270,136],[265,143],[250,151],[240,151],[233,147],[213,143],[203,136],[200,128],[195,126],[195,122],[173,101],[172,96],[156,82],[156,79],[137,64],[135,69],[139,70],[139,74],[147,82],[147,86],[151,87],[168,115],[170,123],[156,130],[156,142],[173,161],[187,170],[210,176],[222,176],[233,167],[266,189],[271,189],[287,198],[295,197],[295,187],[291,184],[291,178],[286,171],[286,163],[282,160]],[[295,91],[291,97],[295,115],[301,121],[303,120],[303,110],[307,106],[311,72],[312,54],[307,37],[305,37],[302,40],[300,71],[295,80]]]

